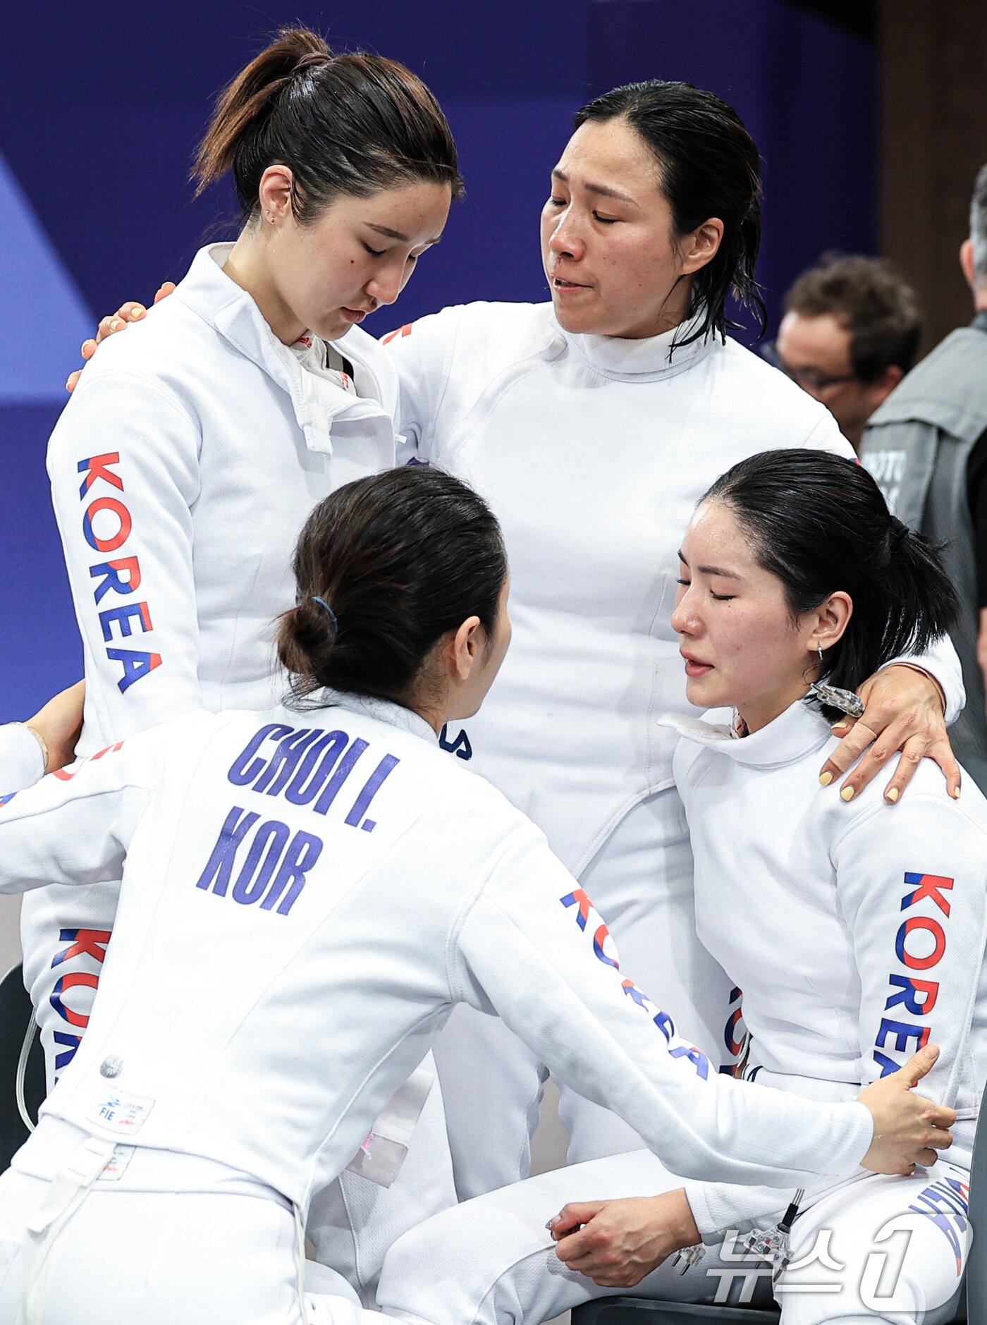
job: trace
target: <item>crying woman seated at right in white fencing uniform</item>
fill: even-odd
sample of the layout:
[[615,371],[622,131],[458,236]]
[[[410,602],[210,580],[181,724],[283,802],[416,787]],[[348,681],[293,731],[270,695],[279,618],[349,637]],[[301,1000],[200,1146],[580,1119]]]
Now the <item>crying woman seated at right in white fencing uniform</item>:
[[[734,709],[733,721],[668,721],[700,938],[743,988],[746,1081],[847,1100],[934,1039],[923,1088],[958,1112],[950,1159],[788,1192],[684,1185],[647,1151],[595,1159],[404,1235],[378,1301],[433,1325],[515,1325],[633,1285],[738,1302],[763,1279],[784,1325],[939,1325],[963,1271],[987,1069],[987,803],[970,779],[955,799],[930,765],[898,803],[889,772],[839,800],[819,765],[861,677],[949,627],[953,588],[865,470],[805,450],[730,469],[680,555],[672,625],[689,700]],[[429,1247],[448,1279],[424,1268]]]

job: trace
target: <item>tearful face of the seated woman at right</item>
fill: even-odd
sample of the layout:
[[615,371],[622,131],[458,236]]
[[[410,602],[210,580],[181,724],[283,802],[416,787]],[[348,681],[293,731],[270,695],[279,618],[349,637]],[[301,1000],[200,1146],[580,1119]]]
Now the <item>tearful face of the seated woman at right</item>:
[[755,731],[805,693],[815,652],[792,623],[782,582],[758,566],[729,506],[703,502],[681,550],[672,629],[686,696],[735,708]]

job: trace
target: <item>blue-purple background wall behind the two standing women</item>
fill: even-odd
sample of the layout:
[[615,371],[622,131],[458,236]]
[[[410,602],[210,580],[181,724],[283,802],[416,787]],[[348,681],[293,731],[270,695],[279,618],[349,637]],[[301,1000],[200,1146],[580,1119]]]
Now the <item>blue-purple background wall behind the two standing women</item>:
[[[541,299],[537,219],[572,111],[635,78],[733,102],[764,159],[759,276],[776,321],[824,249],[874,252],[870,42],[786,0],[276,0],[11,5],[0,80],[0,721],[81,674],[45,440],[97,314],[232,233],[188,167],[219,87],[299,20],[403,60],[442,102],[468,197],[376,326],[465,299]],[[113,437],[106,439],[107,449]]]

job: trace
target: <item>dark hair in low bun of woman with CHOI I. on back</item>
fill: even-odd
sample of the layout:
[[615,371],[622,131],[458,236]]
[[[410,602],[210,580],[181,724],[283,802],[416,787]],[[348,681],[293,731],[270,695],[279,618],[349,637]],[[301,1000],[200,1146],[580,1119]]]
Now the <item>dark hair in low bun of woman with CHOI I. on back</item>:
[[440,469],[405,466],[319,502],[294,574],[298,606],[278,631],[294,697],[329,688],[404,702],[446,631],[478,616],[493,635],[507,556],[472,488]]

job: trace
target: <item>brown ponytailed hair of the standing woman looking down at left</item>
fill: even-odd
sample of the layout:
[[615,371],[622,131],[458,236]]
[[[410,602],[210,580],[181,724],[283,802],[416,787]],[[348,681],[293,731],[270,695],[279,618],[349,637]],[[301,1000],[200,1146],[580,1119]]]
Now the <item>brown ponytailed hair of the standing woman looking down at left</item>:
[[334,56],[306,28],[284,29],[221,94],[192,170],[196,196],[232,170],[249,220],[276,164],[291,170],[299,221],[339,195],[415,180],[462,193],[452,130],[421,80],[383,56]]

